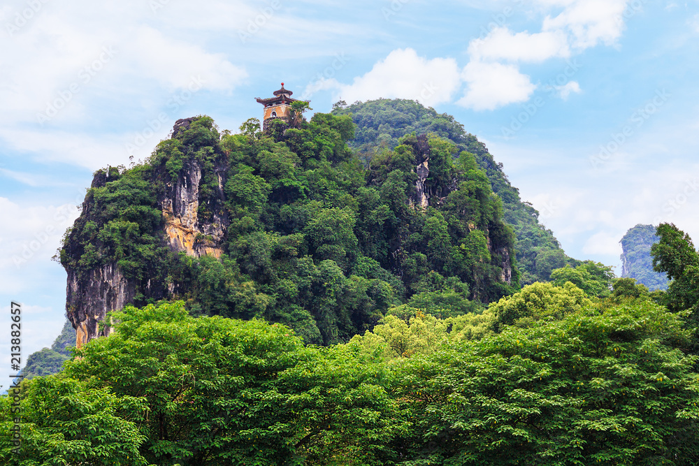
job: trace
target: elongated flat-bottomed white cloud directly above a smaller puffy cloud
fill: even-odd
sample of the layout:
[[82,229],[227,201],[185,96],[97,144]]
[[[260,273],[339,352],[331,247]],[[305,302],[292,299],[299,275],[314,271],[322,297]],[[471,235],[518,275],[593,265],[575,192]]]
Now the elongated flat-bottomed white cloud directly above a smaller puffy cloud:
[[569,57],[568,37],[562,31],[537,34],[513,34],[506,27],[497,27],[485,38],[468,44],[473,60],[508,60],[538,63],[552,57]]

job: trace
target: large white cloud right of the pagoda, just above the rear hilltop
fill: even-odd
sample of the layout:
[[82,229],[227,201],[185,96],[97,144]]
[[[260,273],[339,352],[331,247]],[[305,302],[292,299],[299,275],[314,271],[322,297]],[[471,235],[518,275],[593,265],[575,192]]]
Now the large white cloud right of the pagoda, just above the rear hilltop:
[[424,105],[448,102],[461,87],[459,66],[452,58],[426,59],[411,48],[397,49],[378,61],[371,71],[354,78],[351,85],[335,79],[311,82],[304,95],[319,89],[337,89],[336,99],[347,102],[400,98]]

